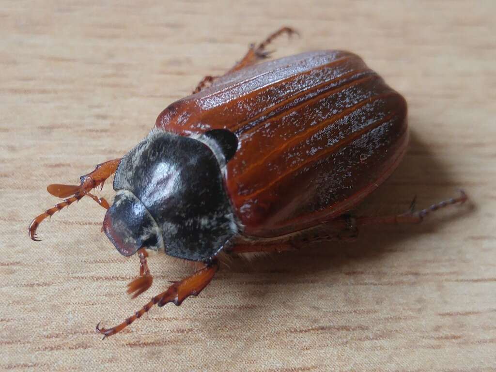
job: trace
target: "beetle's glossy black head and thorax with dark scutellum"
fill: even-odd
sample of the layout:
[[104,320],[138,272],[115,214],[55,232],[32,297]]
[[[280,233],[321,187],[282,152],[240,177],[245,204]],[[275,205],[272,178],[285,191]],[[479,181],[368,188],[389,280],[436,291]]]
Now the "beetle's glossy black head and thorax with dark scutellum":
[[191,137],[153,129],[121,160],[104,231],[124,255],[139,248],[207,260],[238,233],[222,169],[237,148],[228,130]]

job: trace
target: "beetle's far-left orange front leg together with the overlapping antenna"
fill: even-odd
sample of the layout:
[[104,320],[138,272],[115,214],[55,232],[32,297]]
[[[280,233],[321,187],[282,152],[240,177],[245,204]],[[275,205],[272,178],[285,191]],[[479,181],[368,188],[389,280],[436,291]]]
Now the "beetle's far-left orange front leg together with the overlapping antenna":
[[[66,199],[57,204],[55,207],[50,208],[44,213],[40,214],[38,217],[33,219],[33,221],[31,221],[31,224],[29,225],[29,236],[31,237],[31,239],[34,241],[40,240],[36,236],[36,229],[45,218],[51,217],[55,212],[58,212],[62,208],[69,206],[74,201],[81,199],[85,195],[88,195],[102,207],[108,209],[109,203],[107,202],[107,200],[93,195],[92,193],[90,193],[90,191],[97,186],[103,187],[105,180],[112,176],[112,174],[115,173],[115,171],[117,170],[120,161],[121,159],[114,159],[97,165],[93,172],[81,176],[80,185],[49,185],[47,187],[48,192],[50,192],[54,196]],[[72,196],[68,197],[70,195]]]

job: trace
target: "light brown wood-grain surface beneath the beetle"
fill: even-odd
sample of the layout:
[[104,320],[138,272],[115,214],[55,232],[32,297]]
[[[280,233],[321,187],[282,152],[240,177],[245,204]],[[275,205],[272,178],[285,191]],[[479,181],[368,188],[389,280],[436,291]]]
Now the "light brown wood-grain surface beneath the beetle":
[[[0,369],[13,371],[495,371],[494,1],[1,1]],[[153,287],[100,233],[92,200],[41,225],[75,183],[123,155],[169,103],[282,25],[276,56],[347,49],[409,103],[412,139],[364,205],[383,214],[452,196],[471,205],[352,244],[233,260],[182,307],[121,321],[191,271],[152,254]],[[100,193],[112,198],[108,185]]]

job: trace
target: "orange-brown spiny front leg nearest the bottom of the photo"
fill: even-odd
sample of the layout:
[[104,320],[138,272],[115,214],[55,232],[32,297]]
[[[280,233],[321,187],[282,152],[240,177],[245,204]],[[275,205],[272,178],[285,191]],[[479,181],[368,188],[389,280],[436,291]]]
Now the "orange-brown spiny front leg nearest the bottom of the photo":
[[140,318],[145,312],[150,310],[153,305],[158,304],[158,306],[164,306],[170,302],[174,303],[176,306],[181,305],[187,297],[199,295],[203,288],[210,283],[218,268],[219,265],[217,261],[212,261],[210,264],[196,271],[193,275],[179,282],[174,282],[174,284],[172,284],[167,291],[153,297],[149,303],[143,306],[140,310],[136,311],[121,324],[112,328],[100,328],[100,323],[98,323],[96,326],[96,331],[103,334],[103,338],[112,336],[113,334],[122,331],[134,320]]

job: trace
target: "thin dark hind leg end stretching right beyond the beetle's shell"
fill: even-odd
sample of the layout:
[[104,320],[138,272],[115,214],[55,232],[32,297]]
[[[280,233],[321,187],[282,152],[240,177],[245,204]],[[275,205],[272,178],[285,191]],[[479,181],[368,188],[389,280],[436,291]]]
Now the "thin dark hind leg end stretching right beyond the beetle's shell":
[[391,224],[417,224],[417,223],[422,222],[427,215],[435,212],[438,209],[445,208],[448,205],[463,204],[467,200],[468,200],[468,196],[465,193],[465,191],[460,190],[460,196],[458,196],[458,197],[443,200],[439,203],[435,203],[435,204],[431,205],[429,208],[422,209],[420,211],[415,212],[413,210],[414,205],[415,205],[415,199],[414,199],[414,201],[412,202],[412,206],[410,208],[410,211],[408,211],[406,213],[398,214],[398,215],[392,215],[392,216],[384,216],[384,217],[367,217],[367,216],[357,217],[356,223],[358,226],[391,225]]

